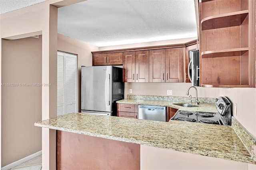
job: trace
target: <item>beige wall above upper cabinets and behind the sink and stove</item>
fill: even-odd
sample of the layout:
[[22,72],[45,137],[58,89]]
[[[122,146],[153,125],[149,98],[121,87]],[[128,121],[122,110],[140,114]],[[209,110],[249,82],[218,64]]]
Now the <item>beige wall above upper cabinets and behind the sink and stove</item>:
[[[136,43],[128,45],[116,45],[100,47],[99,50],[121,49],[131,47],[143,47],[153,45],[166,45],[175,43],[186,43],[190,39],[169,40],[148,43]],[[132,89],[132,95],[160,95],[167,96],[167,90],[173,90],[172,96],[186,97],[186,91],[191,83],[125,83],[125,97]],[[232,109],[237,120],[253,135],[256,136],[256,89],[255,88],[208,88],[197,87],[198,97],[219,97],[226,96],[233,103]],[[190,90],[194,97],[194,89]],[[235,103],[237,104],[237,114],[235,114]]]

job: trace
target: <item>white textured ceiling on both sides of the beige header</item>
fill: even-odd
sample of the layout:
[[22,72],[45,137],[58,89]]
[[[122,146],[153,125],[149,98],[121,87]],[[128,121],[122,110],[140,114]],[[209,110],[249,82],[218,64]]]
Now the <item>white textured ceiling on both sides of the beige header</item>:
[[[0,0],[0,14],[45,0]],[[58,33],[99,47],[197,37],[194,0],[87,0],[58,8]]]

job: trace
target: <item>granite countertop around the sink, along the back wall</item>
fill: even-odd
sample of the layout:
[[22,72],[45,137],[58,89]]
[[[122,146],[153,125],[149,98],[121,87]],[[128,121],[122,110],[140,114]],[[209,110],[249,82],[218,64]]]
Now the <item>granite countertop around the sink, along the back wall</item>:
[[[123,99],[116,101],[116,103],[125,103],[125,104],[136,104],[136,105],[153,105],[153,106],[166,106],[166,107],[172,107],[175,109],[179,109],[182,111],[198,111],[198,112],[209,112],[209,113],[217,113],[217,109],[215,106],[215,103],[200,103],[198,107],[182,107],[179,105],[174,105],[173,103],[186,103],[191,104],[191,102],[188,101],[182,101],[182,100],[170,100],[170,101],[164,101],[164,100],[145,100],[145,99]],[[192,103],[192,105],[195,105]]]

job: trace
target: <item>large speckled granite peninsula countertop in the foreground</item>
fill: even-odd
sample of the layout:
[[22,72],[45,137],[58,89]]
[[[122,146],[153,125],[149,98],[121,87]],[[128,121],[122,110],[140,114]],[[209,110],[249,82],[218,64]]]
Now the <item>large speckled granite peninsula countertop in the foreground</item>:
[[70,113],[35,126],[256,164],[230,126]]

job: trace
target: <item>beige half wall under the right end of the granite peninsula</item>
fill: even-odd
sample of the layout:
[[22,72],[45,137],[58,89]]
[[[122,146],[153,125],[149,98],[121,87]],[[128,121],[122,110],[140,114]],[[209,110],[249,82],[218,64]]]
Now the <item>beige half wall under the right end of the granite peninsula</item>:
[[255,168],[254,164],[140,145],[141,170],[255,170]]

